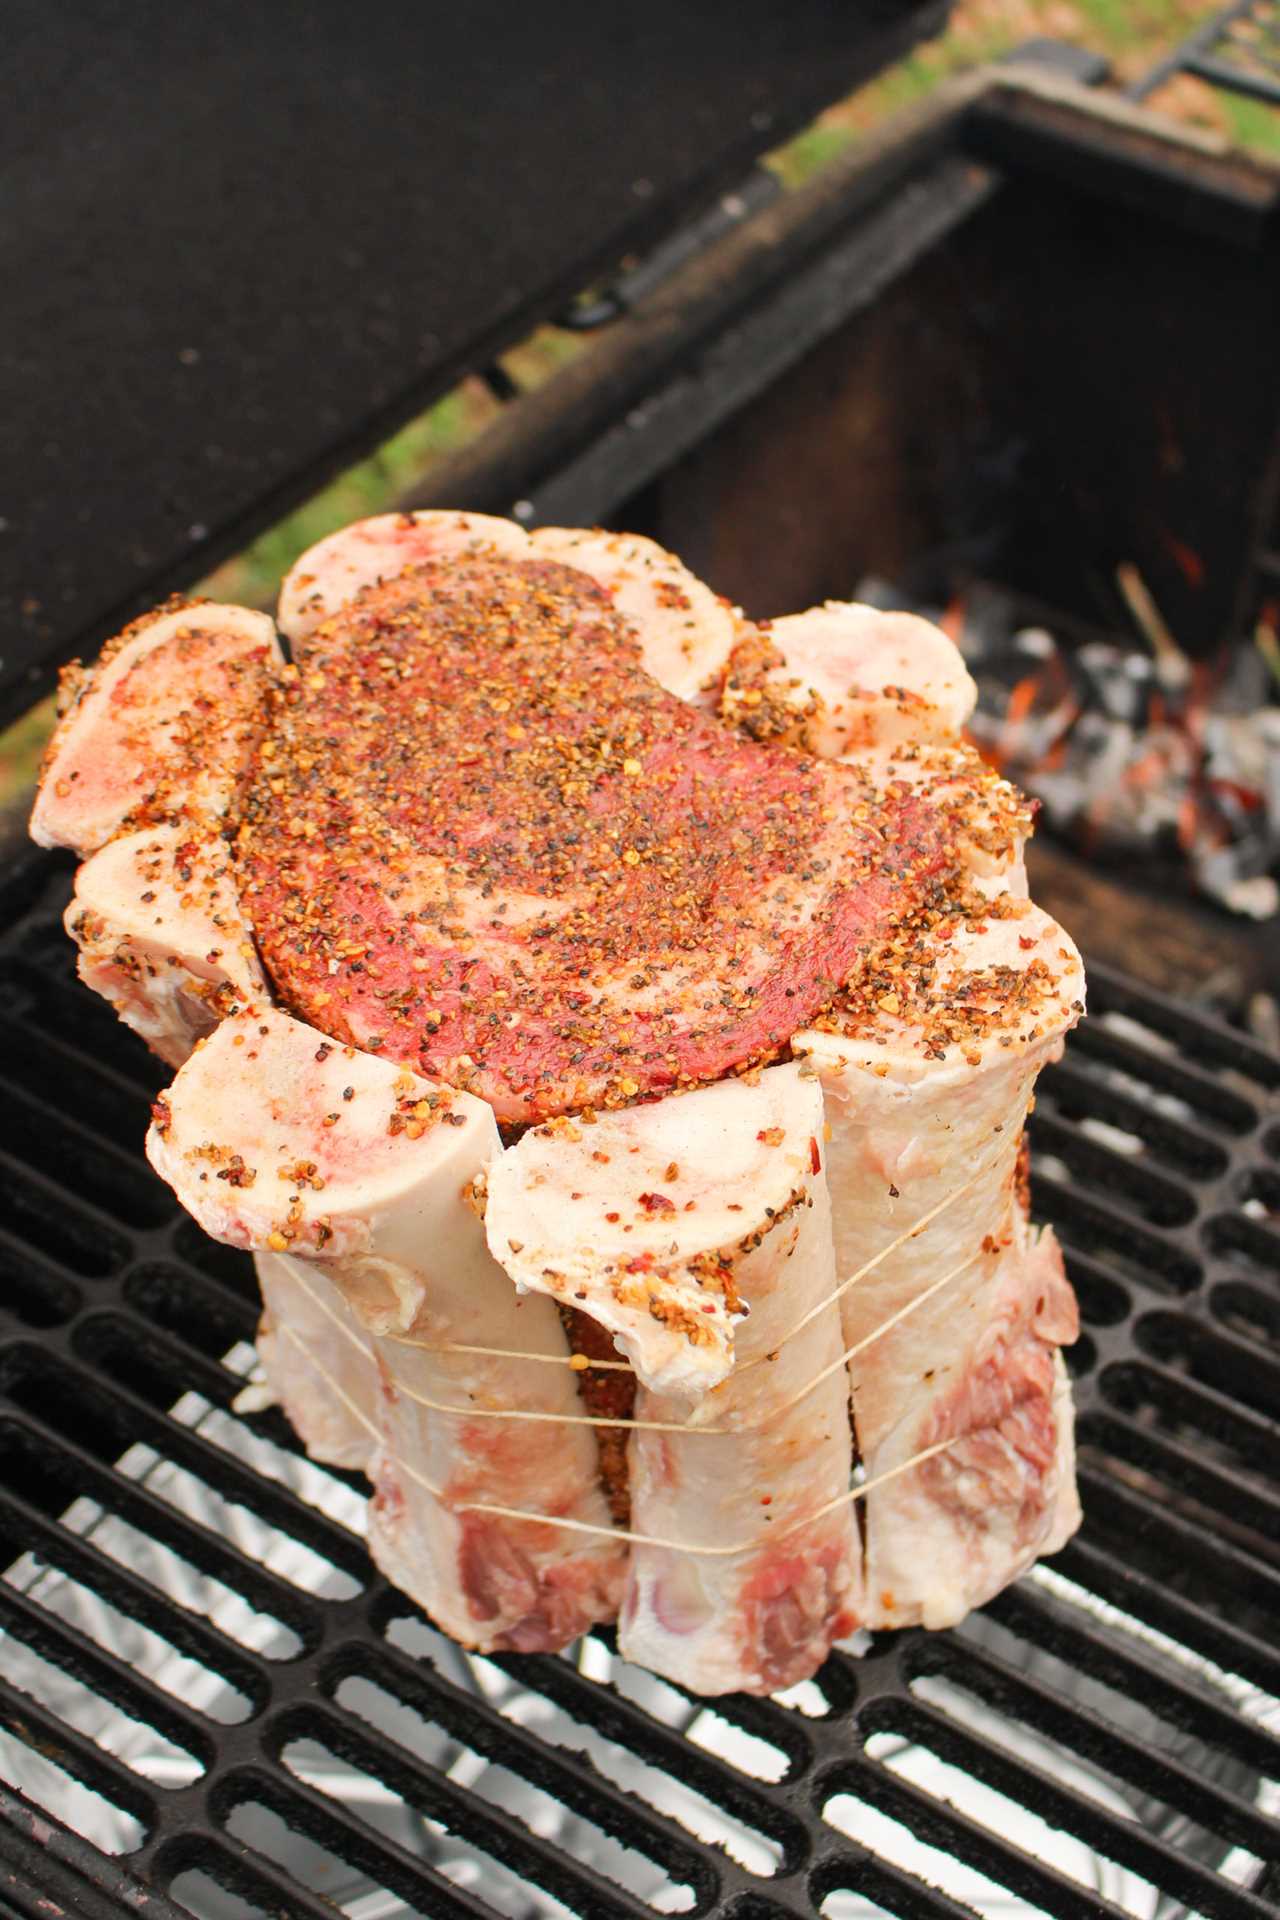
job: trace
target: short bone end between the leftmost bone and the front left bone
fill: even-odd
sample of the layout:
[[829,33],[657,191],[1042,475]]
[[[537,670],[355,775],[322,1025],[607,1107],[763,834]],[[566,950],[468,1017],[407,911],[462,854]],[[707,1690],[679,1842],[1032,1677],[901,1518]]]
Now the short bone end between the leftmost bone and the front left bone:
[[84,985],[169,1066],[232,1006],[265,998],[230,849],[198,826],[107,841],[75,876],[65,927]]

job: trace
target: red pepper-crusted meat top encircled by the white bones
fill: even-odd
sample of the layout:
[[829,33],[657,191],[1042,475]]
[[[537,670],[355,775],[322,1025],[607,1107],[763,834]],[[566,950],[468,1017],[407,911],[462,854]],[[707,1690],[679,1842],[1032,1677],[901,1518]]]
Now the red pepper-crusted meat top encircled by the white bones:
[[301,641],[240,860],[297,1014],[528,1121],[773,1056],[944,839],[668,693],[585,574],[476,557]]

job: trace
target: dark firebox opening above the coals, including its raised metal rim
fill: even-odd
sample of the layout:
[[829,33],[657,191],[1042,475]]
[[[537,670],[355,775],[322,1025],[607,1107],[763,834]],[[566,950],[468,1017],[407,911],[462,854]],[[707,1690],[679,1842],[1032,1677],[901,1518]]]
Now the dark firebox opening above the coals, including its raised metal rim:
[[415,503],[651,532],[756,618],[984,578],[1142,643],[1128,563],[1186,653],[1251,632],[1280,584],[1274,171],[996,79],[752,227]]

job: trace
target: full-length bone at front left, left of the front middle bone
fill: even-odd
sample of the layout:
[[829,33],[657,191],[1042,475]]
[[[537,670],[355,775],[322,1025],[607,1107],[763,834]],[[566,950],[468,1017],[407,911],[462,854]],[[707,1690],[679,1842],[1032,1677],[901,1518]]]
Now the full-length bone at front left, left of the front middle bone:
[[[370,1334],[378,1565],[466,1645],[553,1647],[612,1617],[620,1549],[457,1509],[487,1500],[608,1524],[589,1430],[468,1419],[472,1405],[574,1413],[572,1373],[436,1350],[564,1352],[555,1308],[518,1302],[464,1196],[495,1152],[480,1100],[263,1008],[196,1050],[148,1135],[152,1164],[215,1238],[315,1261]],[[424,1409],[401,1382],[459,1413]]]

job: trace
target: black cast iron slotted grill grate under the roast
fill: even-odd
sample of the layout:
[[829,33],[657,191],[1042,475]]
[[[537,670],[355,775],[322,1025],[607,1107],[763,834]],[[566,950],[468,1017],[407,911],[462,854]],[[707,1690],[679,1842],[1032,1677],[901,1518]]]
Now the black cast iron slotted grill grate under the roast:
[[462,1657],[363,1482],[232,1411],[249,1261],[142,1162],[165,1069],[73,983],[67,876],[0,937],[0,1905],[1280,1912],[1280,1060],[1094,968],[1034,1117],[1082,1534],[958,1632],[704,1705],[606,1636]]

